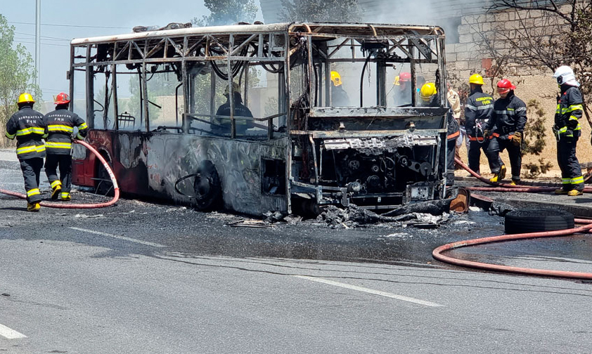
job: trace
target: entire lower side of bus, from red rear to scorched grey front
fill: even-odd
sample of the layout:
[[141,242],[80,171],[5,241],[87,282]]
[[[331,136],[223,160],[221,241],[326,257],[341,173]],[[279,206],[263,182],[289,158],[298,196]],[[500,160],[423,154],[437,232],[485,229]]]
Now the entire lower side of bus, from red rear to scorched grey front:
[[[176,181],[197,171],[210,160],[221,180],[225,209],[250,215],[266,211],[287,211],[285,193],[262,192],[262,159],[285,163],[286,139],[250,142],[160,132],[89,132],[88,140],[107,155],[122,192],[129,195],[169,199],[193,204],[193,199],[174,189]],[[75,160],[77,185],[96,187],[98,169],[94,156],[79,152]],[[285,177],[284,177],[285,178]],[[194,195],[193,178],[179,183],[185,195]]]

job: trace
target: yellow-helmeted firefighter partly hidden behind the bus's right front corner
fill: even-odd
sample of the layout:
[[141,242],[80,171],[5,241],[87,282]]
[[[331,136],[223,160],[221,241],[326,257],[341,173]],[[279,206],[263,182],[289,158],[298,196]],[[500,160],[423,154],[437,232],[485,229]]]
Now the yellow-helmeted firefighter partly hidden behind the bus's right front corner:
[[[432,82],[426,82],[419,91],[421,98],[421,107],[441,107],[440,96],[436,85]],[[454,150],[456,149],[456,138],[461,134],[458,130],[458,122],[454,119],[452,112],[446,114],[448,119],[448,131],[446,132],[446,160],[444,153],[440,153],[439,170],[444,171],[444,161],[446,161],[446,185],[454,184]]]

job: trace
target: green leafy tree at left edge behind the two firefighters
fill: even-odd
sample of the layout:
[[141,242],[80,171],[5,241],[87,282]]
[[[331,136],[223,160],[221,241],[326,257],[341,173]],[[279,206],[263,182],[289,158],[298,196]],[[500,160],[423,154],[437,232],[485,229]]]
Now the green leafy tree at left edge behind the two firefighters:
[[37,72],[31,54],[22,44],[14,45],[14,26],[9,26],[0,15],[0,145],[6,146],[6,122],[16,112],[16,100],[20,93],[29,92],[41,98],[39,87],[34,84]]

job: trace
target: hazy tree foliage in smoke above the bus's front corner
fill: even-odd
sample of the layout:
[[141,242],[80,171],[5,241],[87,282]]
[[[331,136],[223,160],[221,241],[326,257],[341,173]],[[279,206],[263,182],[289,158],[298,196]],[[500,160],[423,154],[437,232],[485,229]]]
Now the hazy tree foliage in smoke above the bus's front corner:
[[357,0],[281,0],[280,17],[302,22],[356,22],[360,20]]

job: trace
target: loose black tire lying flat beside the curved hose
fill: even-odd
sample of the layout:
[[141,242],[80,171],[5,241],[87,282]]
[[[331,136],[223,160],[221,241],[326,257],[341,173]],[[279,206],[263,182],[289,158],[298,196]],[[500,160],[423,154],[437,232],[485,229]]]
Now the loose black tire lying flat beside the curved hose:
[[507,234],[574,228],[574,215],[565,210],[522,209],[506,214]]

